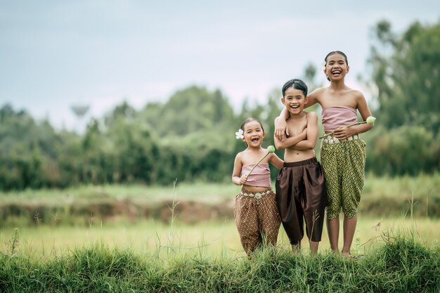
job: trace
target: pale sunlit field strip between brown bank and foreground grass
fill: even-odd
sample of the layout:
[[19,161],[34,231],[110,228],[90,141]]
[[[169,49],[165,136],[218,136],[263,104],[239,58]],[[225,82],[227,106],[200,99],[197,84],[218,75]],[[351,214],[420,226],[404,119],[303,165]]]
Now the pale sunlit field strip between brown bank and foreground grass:
[[[51,257],[64,254],[71,249],[103,243],[109,247],[126,247],[139,253],[174,254],[202,252],[212,256],[245,256],[240,245],[238,232],[233,221],[209,221],[198,225],[138,221],[128,223],[93,223],[84,226],[38,226],[22,228],[1,228],[1,253],[11,252],[11,243],[18,233],[15,251],[33,257]],[[355,254],[370,254],[383,242],[383,235],[399,233],[414,238],[428,247],[439,246],[440,220],[436,219],[370,219],[360,217],[353,243]],[[342,234],[342,233],[341,233]],[[340,235],[342,243],[342,235]],[[287,237],[280,228],[280,247],[289,248]],[[309,254],[307,240],[302,241],[304,254]],[[323,232],[320,252],[330,249],[327,232]]]

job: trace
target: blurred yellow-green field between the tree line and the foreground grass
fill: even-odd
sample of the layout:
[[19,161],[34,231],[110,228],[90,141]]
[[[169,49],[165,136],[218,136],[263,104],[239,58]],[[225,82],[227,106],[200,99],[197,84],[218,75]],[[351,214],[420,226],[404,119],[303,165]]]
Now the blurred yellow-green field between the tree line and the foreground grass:
[[[46,223],[35,221],[42,215],[32,212],[26,212],[25,216],[17,219],[3,218],[4,221],[0,225],[1,252],[9,249],[8,242],[11,242],[17,228],[20,249],[36,256],[62,253],[65,249],[83,247],[96,242],[103,242],[110,247],[131,247],[138,252],[172,246],[176,247],[174,250],[181,252],[203,249],[215,255],[242,255],[231,211],[233,198],[238,190],[239,187],[233,184],[178,183],[165,187],[89,185],[67,190],[0,193],[0,207],[7,204],[14,204],[14,209],[19,209],[21,204],[31,206],[34,204],[39,209],[54,204],[60,204],[61,207],[46,212],[45,216],[49,219]],[[164,214],[167,221],[139,215],[127,217],[124,214],[101,219],[90,211],[79,214],[77,219],[81,221],[75,220],[69,225],[59,224],[62,221],[59,223],[53,221],[57,217],[61,219],[65,216],[62,213],[70,209],[67,204],[78,202],[95,204],[102,200],[115,200],[117,203],[131,201],[147,205],[166,202],[163,204],[162,214],[163,211],[167,211]],[[171,200],[176,204],[174,214],[171,211]],[[382,233],[387,231],[398,231],[403,235],[417,237],[420,242],[429,246],[438,245],[440,218],[429,214],[429,211],[440,209],[438,200],[440,200],[439,174],[421,175],[415,178],[367,176],[353,249],[361,254],[368,253],[375,243],[380,242]],[[195,218],[196,221],[193,221],[192,225],[187,225],[184,221],[179,221],[181,216],[179,213],[183,211],[179,211],[178,208],[188,201],[204,202],[210,206],[226,202],[228,216],[218,217],[215,221],[210,221],[209,217]],[[370,207],[374,207],[373,211]],[[196,213],[204,208],[200,207],[199,210],[190,210],[190,212]],[[29,219],[34,220],[32,224],[29,224]],[[280,228],[278,242],[281,246],[288,246],[283,228]],[[306,247],[306,240],[303,240],[305,252]],[[320,250],[325,252],[328,248],[328,237],[324,231]]]

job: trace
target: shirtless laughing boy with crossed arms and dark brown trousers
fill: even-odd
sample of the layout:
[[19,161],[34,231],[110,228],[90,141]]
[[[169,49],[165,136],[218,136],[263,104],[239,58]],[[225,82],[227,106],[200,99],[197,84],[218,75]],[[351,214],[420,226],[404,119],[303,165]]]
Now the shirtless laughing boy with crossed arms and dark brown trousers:
[[307,86],[302,80],[286,82],[282,91],[290,136],[283,141],[274,137],[275,147],[285,149],[283,169],[276,177],[276,202],[292,251],[301,249],[305,221],[310,250],[316,254],[327,201],[323,170],[314,152],[318,117],[315,112],[304,112]]

